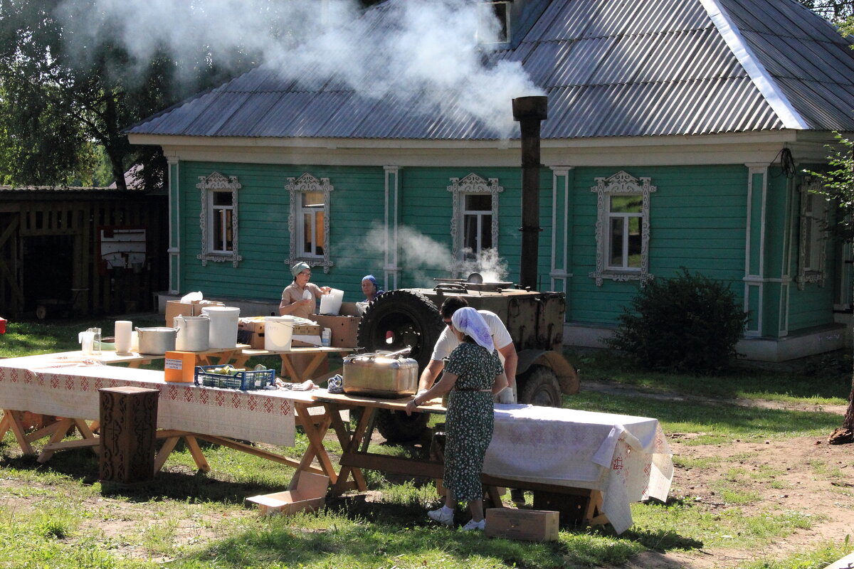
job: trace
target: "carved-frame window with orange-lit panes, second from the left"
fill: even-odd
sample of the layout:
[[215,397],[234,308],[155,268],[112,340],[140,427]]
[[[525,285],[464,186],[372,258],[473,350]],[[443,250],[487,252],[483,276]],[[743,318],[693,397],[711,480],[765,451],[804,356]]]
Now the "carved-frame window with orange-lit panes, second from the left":
[[290,192],[290,258],[287,264],[305,261],[322,266],[328,273],[333,265],[329,251],[330,193],[334,188],[329,178],[316,178],[305,173],[299,179],[288,178]]

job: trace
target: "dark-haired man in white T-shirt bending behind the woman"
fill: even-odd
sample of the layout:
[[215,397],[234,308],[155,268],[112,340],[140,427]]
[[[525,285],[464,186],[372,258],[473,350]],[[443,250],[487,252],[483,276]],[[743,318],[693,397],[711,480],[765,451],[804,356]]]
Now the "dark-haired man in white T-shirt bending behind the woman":
[[[439,340],[436,341],[436,346],[433,348],[433,355],[430,356],[430,363],[427,364],[427,367],[424,368],[421,377],[418,379],[418,392],[430,389],[430,386],[433,385],[439,374],[442,374],[442,369],[445,368],[444,359],[450,356],[453,349],[459,345],[459,340],[457,340],[457,337],[449,329],[451,326],[451,316],[460,308],[468,305],[469,303],[459,296],[450,296],[442,303],[439,313],[442,315],[442,322],[445,322],[445,329],[442,330]],[[510,333],[507,332],[504,322],[501,322],[501,319],[494,312],[478,312],[483,316],[483,320],[486,321],[489,331],[492,334],[492,340],[495,348],[498,350],[501,363],[504,364],[504,373],[509,382],[504,391],[498,394],[498,401],[499,403],[515,403],[518,355],[516,354],[516,347],[513,345],[513,339]]]

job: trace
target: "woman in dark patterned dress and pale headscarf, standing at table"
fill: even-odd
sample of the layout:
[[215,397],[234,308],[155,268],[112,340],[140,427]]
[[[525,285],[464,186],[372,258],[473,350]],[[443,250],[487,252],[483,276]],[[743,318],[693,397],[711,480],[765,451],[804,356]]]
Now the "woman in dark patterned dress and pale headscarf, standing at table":
[[447,358],[442,378],[407,404],[407,415],[418,405],[449,393],[445,415],[445,472],[447,488],[442,508],[427,513],[440,524],[453,524],[458,501],[468,502],[471,520],[463,530],[483,530],[483,457],[492,440],[493,394],[507,386],[507,378],[489,328],[475,309],[460,308],[451,316],[452,331],[462,342]]

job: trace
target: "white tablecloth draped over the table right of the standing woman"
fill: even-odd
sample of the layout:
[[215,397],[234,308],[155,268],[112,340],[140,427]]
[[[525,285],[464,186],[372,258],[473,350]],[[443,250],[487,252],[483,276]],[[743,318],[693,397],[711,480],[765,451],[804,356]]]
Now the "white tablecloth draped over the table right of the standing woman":
[[629,503],[667,499],[673,462],[656,419],[496,405],[483,472],[601,491],[602,512],[622,533],[632,525]]

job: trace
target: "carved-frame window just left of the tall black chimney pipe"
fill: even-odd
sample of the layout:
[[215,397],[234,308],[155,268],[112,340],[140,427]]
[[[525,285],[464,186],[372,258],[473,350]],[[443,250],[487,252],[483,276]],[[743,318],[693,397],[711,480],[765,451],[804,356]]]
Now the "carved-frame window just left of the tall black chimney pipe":
[[465,262],[498,248],[498,195],[504,188],[498,185],[498,178],[486,180],[471,173],[462,179],[452,177],[447,191],[453,194],[452,271],[459,272]]

